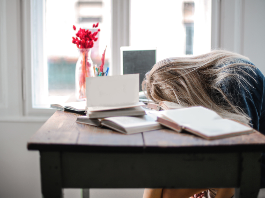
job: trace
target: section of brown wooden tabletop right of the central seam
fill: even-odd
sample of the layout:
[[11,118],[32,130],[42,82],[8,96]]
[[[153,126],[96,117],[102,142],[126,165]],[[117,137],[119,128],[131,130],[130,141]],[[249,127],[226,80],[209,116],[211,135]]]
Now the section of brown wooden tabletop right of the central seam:
[[[216,152],[220,147],[220,151],[265,151],[265,136],[258,131],[251,134],[238,135],[230,138],[221,138],[215,140],[206,140],[189,132],[177,133],[170,129],[161,129],[143,133],[146,148],[186,148],[208,150]],[[215,149],[216,148],[216,149]],[[165,150],[165,149],[164,149]],[[190,151],[190,150],[187,150]]]

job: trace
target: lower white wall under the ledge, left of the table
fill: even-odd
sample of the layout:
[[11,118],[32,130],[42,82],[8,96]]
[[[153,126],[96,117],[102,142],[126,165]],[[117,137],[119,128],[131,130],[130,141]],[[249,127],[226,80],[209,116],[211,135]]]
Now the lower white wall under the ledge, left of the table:
[[0,122],[0,197],[41,197],[39,153],[27,141],[43,123]]

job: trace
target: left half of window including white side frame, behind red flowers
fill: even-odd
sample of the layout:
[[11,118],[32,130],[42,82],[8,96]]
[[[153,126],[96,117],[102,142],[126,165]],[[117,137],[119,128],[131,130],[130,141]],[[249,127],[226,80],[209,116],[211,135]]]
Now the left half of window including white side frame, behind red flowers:
[[91,59],[100,65],[107,45],[105,67],[109,67],[111,0],[32,0],[32,4],[37,8],[32,9],[33,107],[47,108],[51,103],[74,101],[78,51],[72,37],[79,28],[92,30],[93,23],[99,22],[101,31]]

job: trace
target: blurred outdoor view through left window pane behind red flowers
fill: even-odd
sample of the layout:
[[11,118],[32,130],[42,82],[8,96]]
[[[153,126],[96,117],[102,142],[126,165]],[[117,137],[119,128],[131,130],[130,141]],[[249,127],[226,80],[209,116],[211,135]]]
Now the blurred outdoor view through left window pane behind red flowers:
[[[77,46],[72,43],[72,37],[76,36],[79,28],[96,30],[92,29],[92,25],[99,22],[98,28],[101,31],[97,35],[98,40],[94,42],[91,59],[99,66],[107,45],[104,67],[109,67],[111,0],[46,0],[45,3],[45,53],[49,96],[74,97],[78,51]],[[76,26],[76,31],[73,30],[73,25]]]

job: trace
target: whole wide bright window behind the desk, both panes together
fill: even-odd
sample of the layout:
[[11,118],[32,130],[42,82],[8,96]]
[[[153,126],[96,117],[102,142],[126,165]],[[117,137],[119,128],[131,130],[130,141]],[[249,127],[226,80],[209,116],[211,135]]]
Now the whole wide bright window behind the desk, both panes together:
[[157,61],[211,49],[211,0],[31,0],[32,100],[28,106],[46,109],[51,103],[74,100],[78,51],[71,42],[76,33],[72,26],[91,29],[97,21],[101,31],[91,58],[101,64],[107,45],[105,66],[113,74],[117,74],[120,46],[157,47]]

